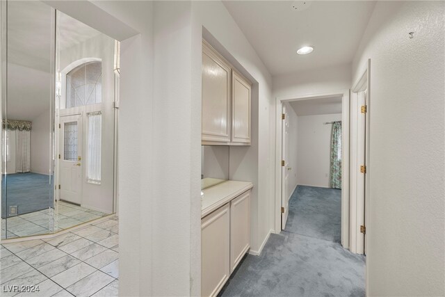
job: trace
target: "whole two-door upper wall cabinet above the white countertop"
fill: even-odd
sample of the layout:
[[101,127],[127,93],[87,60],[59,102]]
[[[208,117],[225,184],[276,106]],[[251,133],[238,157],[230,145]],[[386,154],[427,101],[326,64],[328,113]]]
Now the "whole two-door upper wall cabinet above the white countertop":
[[250,145],[250,89],[250,82],[203,40],[203,145]]

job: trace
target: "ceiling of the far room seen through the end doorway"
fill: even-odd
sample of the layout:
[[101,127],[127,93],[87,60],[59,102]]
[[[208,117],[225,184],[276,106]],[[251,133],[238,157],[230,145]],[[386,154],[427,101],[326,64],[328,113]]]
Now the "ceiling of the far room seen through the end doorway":
[[298,100],[289,104],[298,116],[341,113],[341,96]]

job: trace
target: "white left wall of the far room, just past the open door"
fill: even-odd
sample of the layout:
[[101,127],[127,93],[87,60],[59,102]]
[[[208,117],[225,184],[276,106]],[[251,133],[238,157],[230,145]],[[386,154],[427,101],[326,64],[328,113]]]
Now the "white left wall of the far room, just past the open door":
[[297,187],[298,184],[298,115],[293,110],[289,102],[284,102],[286,106],[286,113],[289,118],[289,130],[288,130],[288,138],[287,138],[287,158],[289,167],[291,168],[289,172],[289,182],[288,182],[288,191],[289,197],[292,195],[293,190]]

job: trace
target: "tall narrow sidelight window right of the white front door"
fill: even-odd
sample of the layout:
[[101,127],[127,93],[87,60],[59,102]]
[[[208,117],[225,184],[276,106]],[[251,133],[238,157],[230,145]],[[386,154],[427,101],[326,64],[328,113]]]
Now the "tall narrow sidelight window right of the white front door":
[[101,183],[102,113],[88,113],[87,182]]

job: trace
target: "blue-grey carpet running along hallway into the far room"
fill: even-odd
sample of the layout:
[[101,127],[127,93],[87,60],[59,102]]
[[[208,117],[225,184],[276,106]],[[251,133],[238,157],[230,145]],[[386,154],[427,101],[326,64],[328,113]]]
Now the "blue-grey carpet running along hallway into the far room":
[[281,234],[247,255],[220,296],[364,296],[364,264],[339,244],[341,191],[298,186]]

